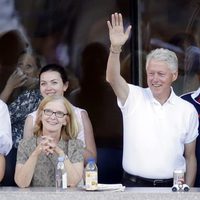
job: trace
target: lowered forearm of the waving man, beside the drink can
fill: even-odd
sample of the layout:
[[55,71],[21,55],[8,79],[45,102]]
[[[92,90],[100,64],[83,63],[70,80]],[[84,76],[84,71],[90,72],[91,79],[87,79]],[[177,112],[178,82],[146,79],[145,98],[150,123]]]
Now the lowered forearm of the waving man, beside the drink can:
[[196,140],[185,144],[185,159],[186,159],[186,184],[192,187],[195,182],[197,161],[195,156]]

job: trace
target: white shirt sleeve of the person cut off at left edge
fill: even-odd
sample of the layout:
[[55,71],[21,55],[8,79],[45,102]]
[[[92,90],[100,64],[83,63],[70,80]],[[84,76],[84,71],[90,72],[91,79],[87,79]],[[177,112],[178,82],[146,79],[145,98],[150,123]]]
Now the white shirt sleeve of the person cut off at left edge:
[[12,148],[10,115],[7,105],[0,100],[0,154],[7,155]]

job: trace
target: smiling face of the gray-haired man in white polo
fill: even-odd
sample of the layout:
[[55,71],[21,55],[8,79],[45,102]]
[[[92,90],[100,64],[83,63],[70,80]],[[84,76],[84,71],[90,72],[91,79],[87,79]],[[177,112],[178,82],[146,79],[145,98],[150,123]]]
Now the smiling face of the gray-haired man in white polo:
[[171,92],[171,84],[176,80],[178,73],[172,72],[167,63],[152,59],[147,67],[147,84],[155,99],[165,102]]

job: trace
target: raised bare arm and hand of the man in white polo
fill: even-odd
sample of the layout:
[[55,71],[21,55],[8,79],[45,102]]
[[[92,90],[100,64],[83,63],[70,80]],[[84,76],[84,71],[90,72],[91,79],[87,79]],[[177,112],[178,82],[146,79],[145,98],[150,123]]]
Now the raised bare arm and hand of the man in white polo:
[[131,26],[124,32],[122,15],[115,13],[112,14],[111,18],[112,22],[107,22],[111,47],[107,63],[106,80],[111,84],[118,99],[124,104],[128,97],[129,87],[120,74],[120,52],[121,47],[129,37]]

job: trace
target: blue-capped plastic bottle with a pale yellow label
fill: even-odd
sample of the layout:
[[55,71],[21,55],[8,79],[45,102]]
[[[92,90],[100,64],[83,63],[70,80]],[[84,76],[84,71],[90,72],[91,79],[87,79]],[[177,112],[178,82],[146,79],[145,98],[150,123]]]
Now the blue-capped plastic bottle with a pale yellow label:
[[97,190],[98,188],[98,169],[94,158],[87,160],[85,167],[85,189]]

